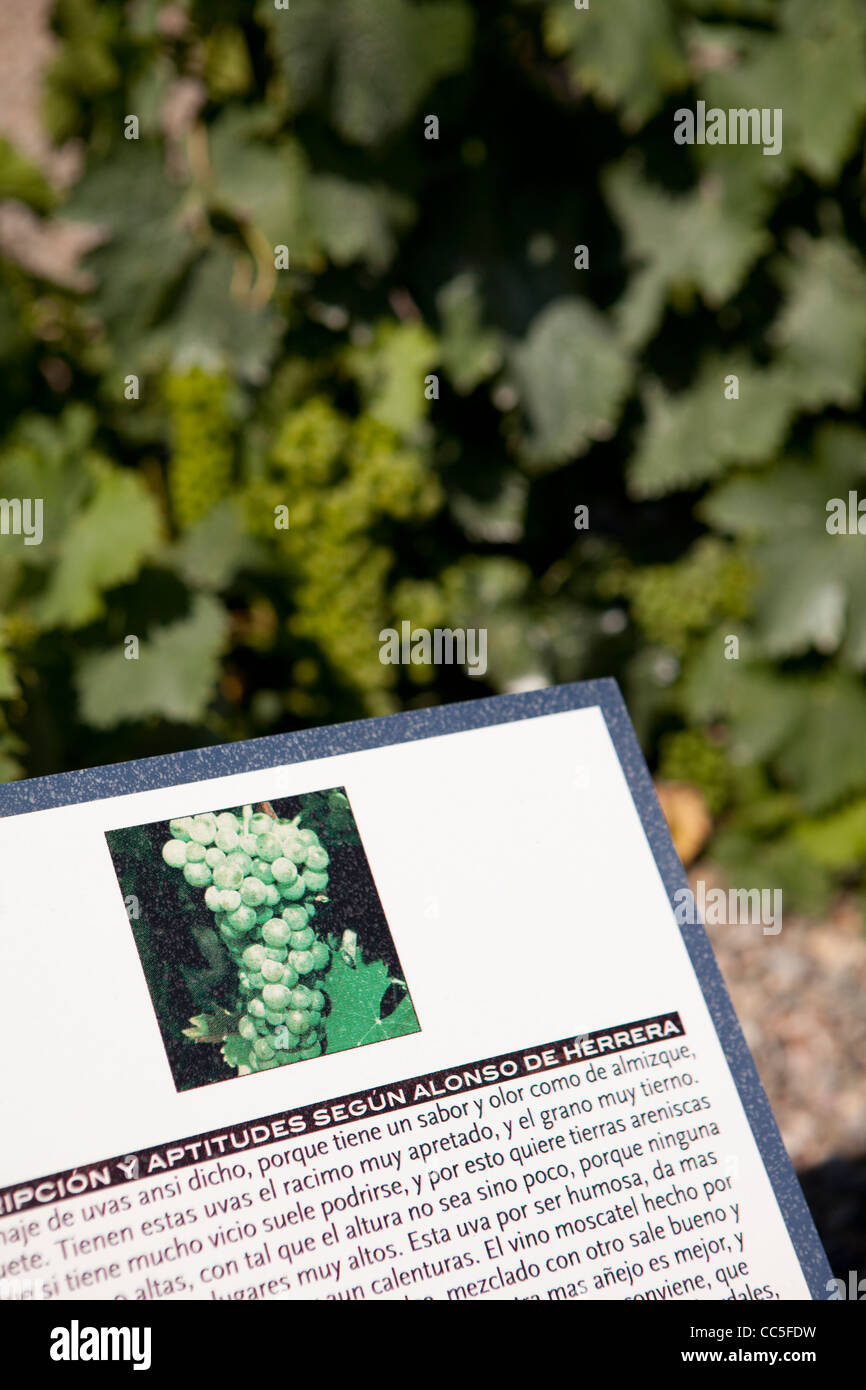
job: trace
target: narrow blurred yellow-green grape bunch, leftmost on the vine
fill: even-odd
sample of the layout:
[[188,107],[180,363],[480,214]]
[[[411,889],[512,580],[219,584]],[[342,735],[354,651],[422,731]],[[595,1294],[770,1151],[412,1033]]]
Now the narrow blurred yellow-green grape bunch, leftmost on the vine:
[[227,407],[225,373],[200,367],[171,373],[165,379],[171,421],[168,496],[181,530],[206,516],[227,496],[232,475],[232,424]]

